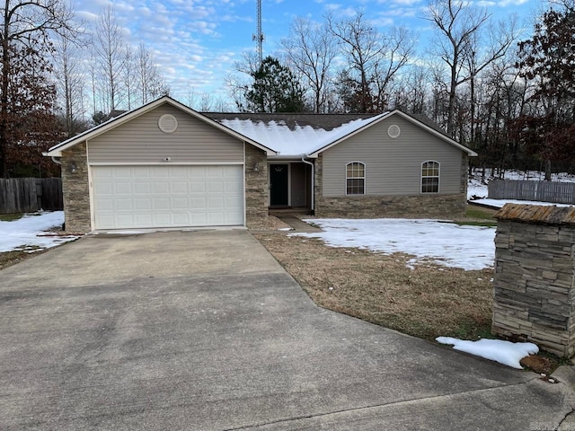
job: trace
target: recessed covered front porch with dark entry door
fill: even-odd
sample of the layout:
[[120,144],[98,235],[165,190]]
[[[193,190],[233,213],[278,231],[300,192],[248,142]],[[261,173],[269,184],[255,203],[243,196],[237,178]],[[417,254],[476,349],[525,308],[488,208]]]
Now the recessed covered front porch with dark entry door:
[[311,214],[314,207],[312,163],[269,161],[270,212],[293,210]]

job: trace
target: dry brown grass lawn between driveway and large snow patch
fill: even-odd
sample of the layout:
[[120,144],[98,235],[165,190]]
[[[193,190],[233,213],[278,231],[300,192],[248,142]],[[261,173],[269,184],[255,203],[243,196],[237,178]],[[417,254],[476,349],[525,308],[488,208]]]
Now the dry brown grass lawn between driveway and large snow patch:
[[410,269],[403,254],[332,248],[286,233],[253,234],[325,308],[422,339],[491,334],[492,269]]

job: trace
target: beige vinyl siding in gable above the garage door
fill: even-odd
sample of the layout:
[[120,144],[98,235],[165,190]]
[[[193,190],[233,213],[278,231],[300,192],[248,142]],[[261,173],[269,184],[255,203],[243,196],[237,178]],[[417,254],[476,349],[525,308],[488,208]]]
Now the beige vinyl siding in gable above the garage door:
[[[166,134],[158,119],[172,114],[178,129]],[[88,141],[88,163],[243,163],[243,142],[168,104]]]

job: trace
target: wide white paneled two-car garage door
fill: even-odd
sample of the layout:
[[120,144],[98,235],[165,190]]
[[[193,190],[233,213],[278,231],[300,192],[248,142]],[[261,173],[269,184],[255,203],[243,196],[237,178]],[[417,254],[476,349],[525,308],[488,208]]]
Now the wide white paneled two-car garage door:
[[243,167],[93,166],[96,229],[243,224]]

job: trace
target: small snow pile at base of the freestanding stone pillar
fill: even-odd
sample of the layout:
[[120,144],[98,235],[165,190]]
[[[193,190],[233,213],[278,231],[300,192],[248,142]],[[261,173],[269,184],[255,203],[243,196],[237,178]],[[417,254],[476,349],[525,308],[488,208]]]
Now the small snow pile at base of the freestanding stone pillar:
[[512,343],[501,339],[467,341],[450,337],[438,337],[436,341],[441,344],[452,344],[453,348],[461,352],[481,356],[519,369],[523,368],[519,364],[521,359],[529,355],[535,355],[539,351],[539,347],[533,343]]

